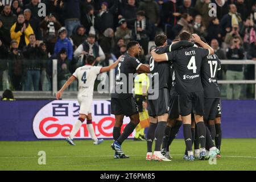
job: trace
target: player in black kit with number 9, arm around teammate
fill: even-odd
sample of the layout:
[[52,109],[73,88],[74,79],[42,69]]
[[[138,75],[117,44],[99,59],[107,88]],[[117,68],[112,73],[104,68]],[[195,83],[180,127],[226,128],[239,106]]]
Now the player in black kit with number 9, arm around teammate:
[[[155,44],[158,47],[157,53],[171,52],[192,44],[188,42],[179,42],[175,45],[167,46],[166,35],[156,35]],[[148,114],[150,115],[150,127],[147,133],[147,155],[146,160],[171,161],[164,157],[160,152],[163,140],[164,130],[168,118],[168,102],[170,85],[170,63],[167,61],[158,63],[152,57],[150,58],[150,71],[152,82],[148,89]],[[155,138],[155,150],[152,154],[152,142]]]

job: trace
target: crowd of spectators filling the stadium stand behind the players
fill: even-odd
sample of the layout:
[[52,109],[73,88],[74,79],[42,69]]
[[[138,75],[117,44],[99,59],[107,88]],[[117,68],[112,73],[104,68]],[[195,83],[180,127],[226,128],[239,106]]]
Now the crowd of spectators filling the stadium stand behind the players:
[[[211,2],[215,17],[208,14]],[[256,60],[255,0],[0,0],[0,12],[0,90],[51,90],[52,59],[60,88],[86,55],[108,65],[129,40],[141,44],[147,63],[156,34],[171,42],[184,30],[204,37],[221,60]],[[254,68],[226,65],[219,77],[254,79]]]

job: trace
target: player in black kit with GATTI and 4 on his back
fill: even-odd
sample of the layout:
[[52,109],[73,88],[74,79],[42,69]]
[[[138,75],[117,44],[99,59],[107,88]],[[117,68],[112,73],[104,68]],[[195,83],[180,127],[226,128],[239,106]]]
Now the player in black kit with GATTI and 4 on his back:
[[[151,51],[155,61],[171,60],[174,63],[176,90],[179,94],[179,110],[183,121],[186,150],[188,151],[187,160],[195,159],[192,151],[191,111],[195,114],[201,144],[200,158],[205,157],[204,90],[201,84],[200,67],[203,59],[214,53],[214,50],[201,41],[198,35],[193,34],[192,38],[204,48],[186,47],[162,55]],[[191,34],[185,31],[181,32],[179,40],[191,41]]]

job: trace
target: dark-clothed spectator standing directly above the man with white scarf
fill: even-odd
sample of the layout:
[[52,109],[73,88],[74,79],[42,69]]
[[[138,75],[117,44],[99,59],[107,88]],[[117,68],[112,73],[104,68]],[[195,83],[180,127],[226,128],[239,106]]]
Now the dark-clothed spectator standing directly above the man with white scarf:
[[82,25],[85,27],[85,33],[88,34],[96,34],[96,31],[94,29],[94,9],[93,6],[88,5],[87,11],[85,15],[82,15],[81,22]]

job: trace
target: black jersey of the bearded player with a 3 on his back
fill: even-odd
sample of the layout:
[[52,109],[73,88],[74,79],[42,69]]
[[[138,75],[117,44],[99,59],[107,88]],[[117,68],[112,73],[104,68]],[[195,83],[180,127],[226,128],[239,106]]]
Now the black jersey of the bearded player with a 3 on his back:
[[115,76],[115,86],[112,90],[112,98],[133,97],[133,78],[134,73],[141,66],[141,62],[128,53],[119,60],[117,75]]

